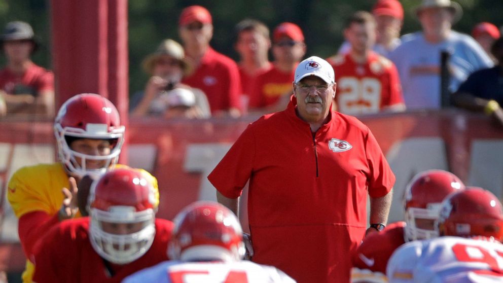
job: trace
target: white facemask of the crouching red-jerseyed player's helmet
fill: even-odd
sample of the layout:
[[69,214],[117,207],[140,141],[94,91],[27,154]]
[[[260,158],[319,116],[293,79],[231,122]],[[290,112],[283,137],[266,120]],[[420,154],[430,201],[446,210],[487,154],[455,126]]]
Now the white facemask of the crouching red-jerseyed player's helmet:
[[[155,236],[155,214],[149,208],[135,211],[132,206],[111,206],[109,211],[91,209],[90,238],[94,250],[105,260],[127,264],[143,256],[150,249]],[[118,232],[122,225],[127,231]],[[128,227],[128,228],[125,228]]]

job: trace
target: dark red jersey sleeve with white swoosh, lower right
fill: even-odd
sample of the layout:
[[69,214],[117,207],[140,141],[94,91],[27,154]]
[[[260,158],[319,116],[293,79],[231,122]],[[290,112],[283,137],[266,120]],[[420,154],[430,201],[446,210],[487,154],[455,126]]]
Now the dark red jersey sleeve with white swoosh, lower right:
[[370,234],[353,254],[353,266],[386,273],[386,265],[393,252],[405,243],[403,221],[389,224],[379,233]]

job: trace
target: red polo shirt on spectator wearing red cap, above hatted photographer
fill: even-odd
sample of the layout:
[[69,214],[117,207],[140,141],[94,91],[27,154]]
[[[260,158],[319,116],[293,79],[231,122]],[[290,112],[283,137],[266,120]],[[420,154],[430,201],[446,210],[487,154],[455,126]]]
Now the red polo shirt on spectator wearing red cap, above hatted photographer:
[[199,88],[208,98],[211,113],[241,109],[241,81],[236,62],[208,48],[194,73],[183,83]]

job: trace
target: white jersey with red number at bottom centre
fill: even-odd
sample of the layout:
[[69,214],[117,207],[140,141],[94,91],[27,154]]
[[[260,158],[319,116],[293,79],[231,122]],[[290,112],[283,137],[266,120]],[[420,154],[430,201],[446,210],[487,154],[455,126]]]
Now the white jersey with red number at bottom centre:
[[250,261],[166,261],[130,275],[123,283],[295,283],[279,269]]

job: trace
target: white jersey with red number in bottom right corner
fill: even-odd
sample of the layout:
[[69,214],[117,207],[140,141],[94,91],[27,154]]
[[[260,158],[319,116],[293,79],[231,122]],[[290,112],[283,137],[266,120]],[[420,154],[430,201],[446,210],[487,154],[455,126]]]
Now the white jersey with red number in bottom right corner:
[[503,282],[503,244],[483,237],[409,242],[393,253],[386,275],[391,283]]

